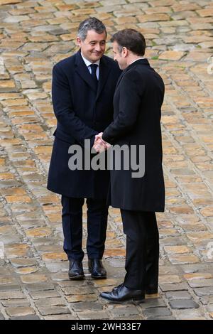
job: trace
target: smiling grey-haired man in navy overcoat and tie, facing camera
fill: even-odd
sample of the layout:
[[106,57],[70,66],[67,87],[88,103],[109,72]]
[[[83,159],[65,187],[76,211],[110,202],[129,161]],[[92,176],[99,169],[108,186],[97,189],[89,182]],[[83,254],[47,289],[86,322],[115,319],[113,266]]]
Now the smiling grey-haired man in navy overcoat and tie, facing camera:
[[113,119],[113,95],[121,74],[104,56],[107,31],[97,18],[80,23],[80,50],[53,67],[53,109],[58,120],[48,174],[48,189],[61,194],[64,250],[70,279],[83,279],[82,205],[87,199],[87,255],[94,279],[107,278],[102,265],[106,239],[109,171],[70,170],[69,147],[89,140],[95,151],[107,148],[97,134]]

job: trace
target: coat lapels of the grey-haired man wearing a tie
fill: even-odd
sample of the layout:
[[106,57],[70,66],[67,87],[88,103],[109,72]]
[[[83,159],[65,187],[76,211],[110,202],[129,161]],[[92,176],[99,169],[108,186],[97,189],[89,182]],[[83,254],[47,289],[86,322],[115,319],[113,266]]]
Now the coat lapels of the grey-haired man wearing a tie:
[[[84,60],[82,59],[80,50],[76,53],[75,67],[80,77],[82,77],[82,79],[85,82],[87,82],[87,85],[89,85],[89,87],[91,87],[92,90],[94,90],[95,92],[96,87],[94,85],[94,81],[92,80],[92,75],[89,73],[89,70],[86,64],[84,63]],[[100,59],[100,64],[99,64],[99,84],[98,84],[96,99],[99,97],[100,93],[102,92],[102,89],[107,80],[110,70],[111,68],[103,56]]]

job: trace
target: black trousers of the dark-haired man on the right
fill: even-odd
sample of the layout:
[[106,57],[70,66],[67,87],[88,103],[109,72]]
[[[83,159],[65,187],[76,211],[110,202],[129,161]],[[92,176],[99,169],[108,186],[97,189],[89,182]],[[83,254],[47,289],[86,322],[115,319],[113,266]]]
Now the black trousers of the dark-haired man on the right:
[[159,233],[155,212],[121,209],[126,234],[126,276],[129,289],[158,291]]

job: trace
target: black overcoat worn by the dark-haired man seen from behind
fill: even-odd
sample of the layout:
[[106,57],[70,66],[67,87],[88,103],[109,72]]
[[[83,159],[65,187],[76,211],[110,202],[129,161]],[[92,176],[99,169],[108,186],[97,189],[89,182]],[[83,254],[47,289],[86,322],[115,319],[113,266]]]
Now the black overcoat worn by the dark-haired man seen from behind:
[[137,161],[134,163],[139,163],[139,145],[144,146],[145,173],[141,178],[133,178],[135,166],[131,168],[130,161],[129,170],[125,170],[124,155],[121,155],[121,170],[113,166],[111,171],[111,205],[114,208],[164,210],[160,130],[163,97],[163,80],[146,59],[136,60],[119,77],[114,95],[114,122],[105,129],[102,138],[113,145],[136,146]]

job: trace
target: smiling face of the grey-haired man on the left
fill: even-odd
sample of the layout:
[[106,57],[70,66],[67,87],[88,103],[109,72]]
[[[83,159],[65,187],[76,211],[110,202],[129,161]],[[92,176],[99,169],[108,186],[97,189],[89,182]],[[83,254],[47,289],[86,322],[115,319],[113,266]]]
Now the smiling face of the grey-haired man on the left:
[[91,63],[95,63],[102,58],[106,48],[106,33],[97,33],[94,30],[87,31],[87,38],[82,41],[77,37],[77,45],[80,46],[82,55]]

